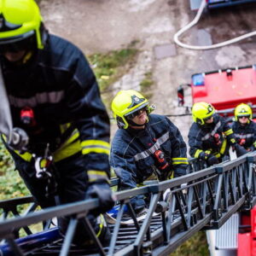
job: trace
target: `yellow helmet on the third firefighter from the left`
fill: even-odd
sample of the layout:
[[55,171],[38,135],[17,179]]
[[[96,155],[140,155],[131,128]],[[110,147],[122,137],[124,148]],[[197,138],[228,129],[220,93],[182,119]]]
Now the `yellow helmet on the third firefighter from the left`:
[[207,102],[197,102],[192,107],[192,117],[195,123],[204,125],[206,119],[210,119],[215,113],[215,108]]

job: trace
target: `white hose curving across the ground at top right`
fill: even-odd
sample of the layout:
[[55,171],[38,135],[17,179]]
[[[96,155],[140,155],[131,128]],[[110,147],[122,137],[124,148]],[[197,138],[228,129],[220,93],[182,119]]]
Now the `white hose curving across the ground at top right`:
[[218,43],[218,44],[212,44],[212,45],[203,45],[203,46],[197,46],[197,45],[189,45],[189,44],[183,44],[182,42],[180,42],[178,40],[178,37],[183,34],[183,32],[186,32],[187,30],[189,30],[190,27],[192,26],[195,26],[195,24],[198,22],[198,20],[201,18],[201,14],[203,12],[203,9],[206,7],[207,3],[206,3],[206,0],[202,0],[201,1],[201,5],[200,5],[200,8],[198,9],[198,12],[197,14],[195,15],[195,18],[194,20],[192,20],[187,26],[184,26],[182,29],[180,29],[173,37],[174,39],[174,42],[183,47],[183,48],[186,48],[186,49],[215,49],[215,48],[218,48],[218,47],[223,47],[225,45],[228,45],[228,44],[234,44],[238,41],[241,41],[245,38],[251,38],[253,36],[256,35],[256,31],[253,31],[253,32],[249,32],[247,34],[244,34],[240,37],[237,37],[237,38],[233,38],[233,39],[230,39],[230,40],[227,40],[227,41],[224,41],[222,43]]

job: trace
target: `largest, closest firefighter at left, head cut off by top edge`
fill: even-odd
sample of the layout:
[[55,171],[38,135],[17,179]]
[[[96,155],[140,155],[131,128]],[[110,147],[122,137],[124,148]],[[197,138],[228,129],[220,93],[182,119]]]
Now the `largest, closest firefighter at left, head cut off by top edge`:
[[[11,119],[29,137],[26,151],[5,139],[16,169],[41,207],[96,197],[98,216],[113,206],[113,196],[109,119],[95,75],[79,48],[49,34],[33,0],[5,0],[0,9],[0,60]],[[91,224],[104,240],[108,230],[95,216]],[[61,234],[66,229],[63,218]],[[86,243],[84,234],[81,219],[74,241]]]

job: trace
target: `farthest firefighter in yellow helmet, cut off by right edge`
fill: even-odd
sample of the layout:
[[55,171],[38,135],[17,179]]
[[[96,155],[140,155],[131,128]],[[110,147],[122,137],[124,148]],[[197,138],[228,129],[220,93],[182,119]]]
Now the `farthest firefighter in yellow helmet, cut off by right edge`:
[[235,108],[235,121],[232,124],[236,142],[247,151],[256,148],[256,124],[253,122],[252,108],[241,103]]

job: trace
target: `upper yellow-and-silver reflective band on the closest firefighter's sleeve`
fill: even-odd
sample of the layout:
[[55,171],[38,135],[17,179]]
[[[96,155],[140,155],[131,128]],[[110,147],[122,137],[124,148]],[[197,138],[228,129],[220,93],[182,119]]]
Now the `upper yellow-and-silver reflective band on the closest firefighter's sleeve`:
[[88,140],[81,143],[82,153],[110,154],[110,144],[104,141]]

